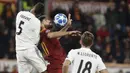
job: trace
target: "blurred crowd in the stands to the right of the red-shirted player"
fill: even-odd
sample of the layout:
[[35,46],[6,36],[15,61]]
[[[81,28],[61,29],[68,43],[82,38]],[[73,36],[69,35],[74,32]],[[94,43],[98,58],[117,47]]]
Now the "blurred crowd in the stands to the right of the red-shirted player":
[[[69,30],[92,32],[95,35],[92,50],[105,62],[130,63],[130,6],[128,3],[125,0],[111,0],[105,13],[101,10],[83,13],[78,6],[79,3],[73,2],[69,11],[57,7],[50,12],[50,17],[53,19],[57,13],[66,15],[71,13],[73,22]],[[80,47],[79,39],[79,37],[65,36],[60,41],[68,53],[71,49]]]

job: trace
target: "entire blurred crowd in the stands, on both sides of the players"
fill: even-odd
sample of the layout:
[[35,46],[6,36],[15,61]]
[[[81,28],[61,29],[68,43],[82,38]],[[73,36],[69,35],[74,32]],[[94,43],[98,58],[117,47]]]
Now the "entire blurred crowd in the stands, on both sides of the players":
[[[75,1],[69,11],[56,8],[49,14],[53,19],[56,13],[62,12],[66,15],[70,13],[73,22],[69,30],[92,32],[95,35],[92,50],[99,54],[105,62],[130,63],[130,5],[125,0],[104,1],[111,2],[105,13],[101,13],[100,10],[82,13],[78,7],[79,2]],[[16,4],[0,3],[0,6],[2,6],[0,7],[2,8],[0,9],[0,59],[16,59]],[[31,6],[27,6],[25,2],[22,10],[30,9]],[[60,42],[68,53],[69,50],[80,47],[79,39],[80,37],[65,36],[60,39]]]

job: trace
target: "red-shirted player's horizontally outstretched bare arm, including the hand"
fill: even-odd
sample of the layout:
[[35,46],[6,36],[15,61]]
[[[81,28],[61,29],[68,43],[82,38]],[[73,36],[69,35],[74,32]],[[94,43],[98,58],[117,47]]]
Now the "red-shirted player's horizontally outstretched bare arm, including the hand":
[[48,32],[47,37],[48,38],[59,38],[62,36],[66,36],[66,35],[79,35],[81,32],[80,31],[57,31],[57,32]]

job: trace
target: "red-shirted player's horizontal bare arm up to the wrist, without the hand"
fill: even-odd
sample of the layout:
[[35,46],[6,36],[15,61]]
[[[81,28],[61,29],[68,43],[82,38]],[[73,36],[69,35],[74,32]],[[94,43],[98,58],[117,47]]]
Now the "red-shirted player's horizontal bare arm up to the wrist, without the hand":
[[62,31],[58,31],[58,32],[50,32],[48,33],[48,38],[59,38],[62,36],[66,36],[69,35],[69,32],[62,32]]

